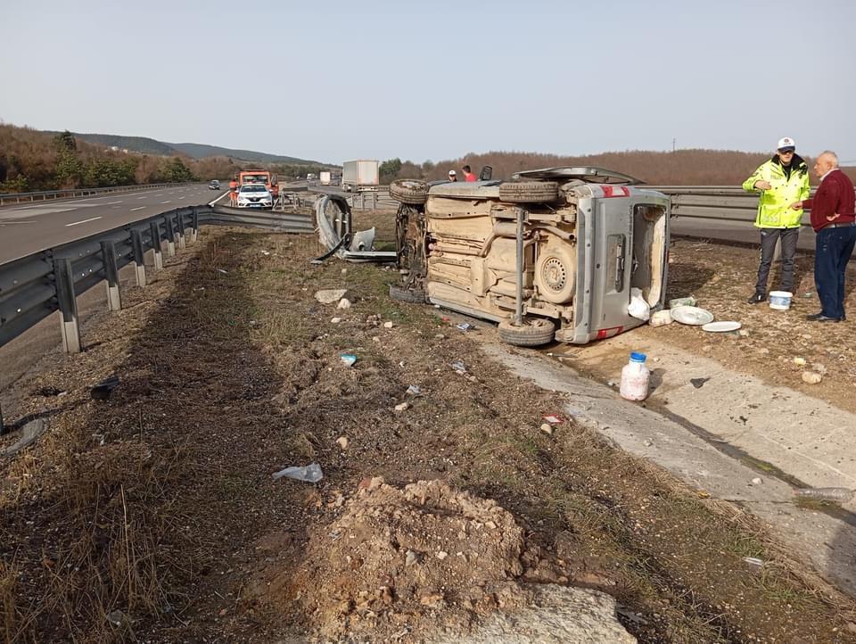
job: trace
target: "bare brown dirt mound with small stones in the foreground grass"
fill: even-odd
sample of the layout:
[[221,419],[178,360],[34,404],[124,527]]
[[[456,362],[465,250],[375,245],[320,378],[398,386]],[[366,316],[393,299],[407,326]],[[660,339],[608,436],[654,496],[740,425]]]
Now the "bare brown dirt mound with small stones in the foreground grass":
[[[497,608],[519,611],[537,594],[514,581],[525,557],[514,516],[436,480],[399,489],[364,479],[342,515],[310,536],[305,557],[296,572],[269,567],[256,599],[297,602],[322,638],[470,633]],[[606,620],[621,629],[604,597]]]

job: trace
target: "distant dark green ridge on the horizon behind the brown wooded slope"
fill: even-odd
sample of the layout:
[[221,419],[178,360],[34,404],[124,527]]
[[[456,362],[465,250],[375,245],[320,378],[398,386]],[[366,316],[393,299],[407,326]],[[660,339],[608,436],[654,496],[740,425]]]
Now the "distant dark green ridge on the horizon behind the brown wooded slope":
[[[59,132],[47,132],[57,135]],[[253,152],[252,150],[233,150],[217,145],[206,145],[198,143],[166,143],[157,141],[146,136],[121,136],[115,134],[72,134],[87,143],[103,145],[104,147],[118,147],[119,150],[138,152],[143,154],[158,154],[161,156],[185,155],[191,159],[206,159],[209,157],[223,156],[236,161],[254,161],[256,163],[300,163],[325,165],[319,161],[298,159],[297,157],[284,156],[281,154],[268,154]]]

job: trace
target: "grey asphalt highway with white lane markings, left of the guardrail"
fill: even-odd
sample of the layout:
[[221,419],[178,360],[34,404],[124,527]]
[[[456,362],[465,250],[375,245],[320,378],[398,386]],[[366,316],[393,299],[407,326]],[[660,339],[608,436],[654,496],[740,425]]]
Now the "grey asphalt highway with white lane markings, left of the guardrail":
[[0,264],[184,206],[203,205],[228,189],[207,185],[145,189],[0,208]]

